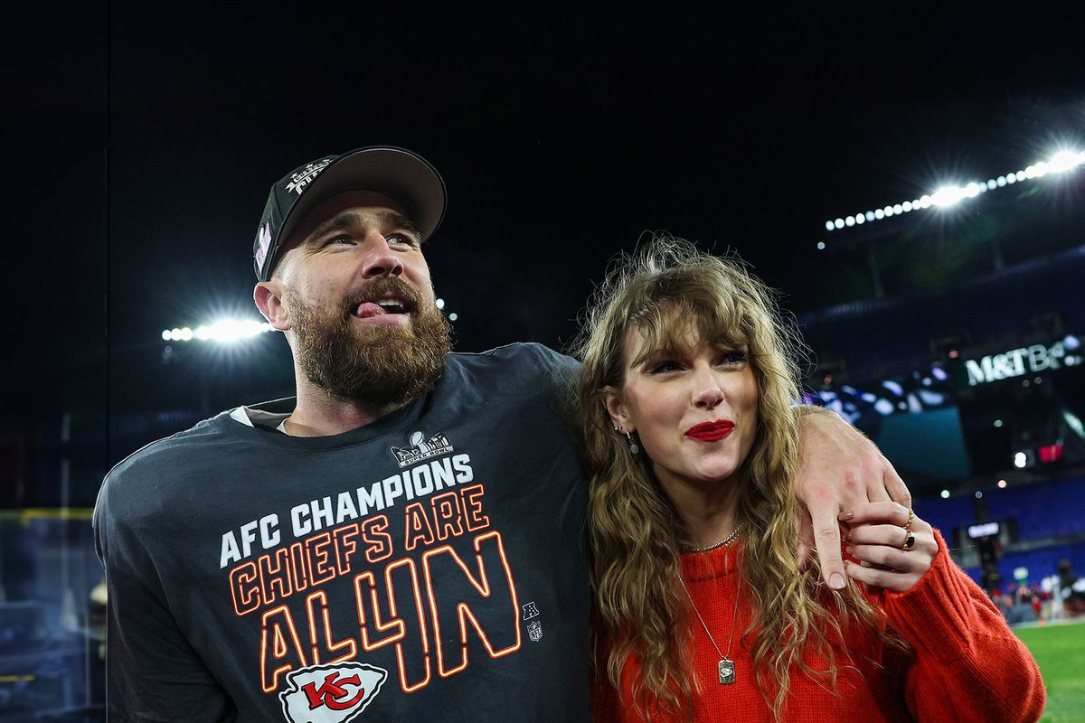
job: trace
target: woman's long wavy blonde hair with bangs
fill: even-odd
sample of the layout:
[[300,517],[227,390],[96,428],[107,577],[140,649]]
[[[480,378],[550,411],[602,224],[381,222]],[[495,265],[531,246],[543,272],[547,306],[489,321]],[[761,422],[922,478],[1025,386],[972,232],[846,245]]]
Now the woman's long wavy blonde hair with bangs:
[[[640,713],[649,720],[653,710],[692,716],[695,683],[685,672],[692,628],[679,565],[686,531],[651,461],[629,453],[603,406],[603,389],[620,390],[626,369],[643,361],[624,358],[634,328],[647,341],[643,358],[685,348],[690,338],[746,349],[757,382],[758,428],[739,477],[748,480],[737,513],[744,542],[740,590],[754,611],[743,640],[752,640],[757,687],[779,720],[792,671],[832,686],[838,667],[831,642],[841,640],[842,625],[856,623],[877,634],[882,618],[854,586],[838,593],[822,585],[816,565],[800,570],[792,487],[797,333],[782,323],[774,293],[741,261],[671,236],[653,236],[612,264],[574,343],[584,362],[576,401],[590,478],[596,674],[621,689],[622,668],[634,656],[640,667],[634,705]],[[828,660],[826,670],[804,662],[808,646]]]

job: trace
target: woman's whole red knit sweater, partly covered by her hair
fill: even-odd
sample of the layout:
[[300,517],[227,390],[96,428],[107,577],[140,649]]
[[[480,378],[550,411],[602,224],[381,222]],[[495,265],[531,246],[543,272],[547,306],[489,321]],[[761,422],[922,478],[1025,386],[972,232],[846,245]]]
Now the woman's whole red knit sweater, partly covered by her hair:
[[[891,655],[880,642],[857,632],[834,646],[838,675],[833,689],[821,687],[801,671],[791,672],[782,720],[795,723],[847,721],[1036,721],[1045,693],[1039,669],[1024,645],[987,596],[949,558],[935,532],[939,554],[931,569],[905,593],[883,592],[871,599],[911,645],[909,655]],[[682,576],[716,644],[727,653],[740,552],[719,548],[682,555]],[[730,658],[736,681],[720,685],[719,655],[695,616],[692,618],[693,673],[701,695],[694,700],[697,722],[763,723],[773,720],[754,683],[750,645],[742,641],[751,611],[740,604]],[[825,661],[807,654],[815,669]],[[854,666],[854,668],[852,668]],[[609,681],[595,686],[596,720],[640,722],[631,703],[631,685],[639,667],[630,658],[622,673],[621,695]],[[653,715],[654,721],[676,719]]]

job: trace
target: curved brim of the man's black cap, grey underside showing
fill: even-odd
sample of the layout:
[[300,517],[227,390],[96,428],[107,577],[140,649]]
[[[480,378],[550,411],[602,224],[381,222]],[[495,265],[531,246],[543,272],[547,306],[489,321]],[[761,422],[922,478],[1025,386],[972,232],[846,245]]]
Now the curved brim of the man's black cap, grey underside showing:
[[310,210],[344,191],[384,194],[407,211],[423,241],[441,225],[448,201],[444,180],[425,158],[394,146],[357,149],[328,166],[290,209],[279,230],[280,248]]

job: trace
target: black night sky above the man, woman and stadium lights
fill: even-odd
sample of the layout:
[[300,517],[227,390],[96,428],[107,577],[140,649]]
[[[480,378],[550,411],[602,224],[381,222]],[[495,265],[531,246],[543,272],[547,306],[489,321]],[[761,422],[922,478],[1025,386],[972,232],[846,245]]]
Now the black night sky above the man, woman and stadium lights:
[[[15,409],[191,406],[158,333],[255,317],[267,191],[323,154],[393,143],[442,171],[427,257],[458,348],[478,350],[569,340],[646,229],[737,248],[796,311],[841,300],[861,264],[816,250],[827,218],[1085,141],[1080,2],[155,4],[24,9],[8,28]],[[261,345],[255,370],[219,362],[257,377],[214,388],[222,405],[289,387],[285,345]]]

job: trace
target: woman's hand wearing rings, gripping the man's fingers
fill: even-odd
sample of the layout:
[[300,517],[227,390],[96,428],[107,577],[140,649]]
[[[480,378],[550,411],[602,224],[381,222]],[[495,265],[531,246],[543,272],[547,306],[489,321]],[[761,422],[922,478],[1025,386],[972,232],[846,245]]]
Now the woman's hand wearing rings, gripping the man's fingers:
[[910,590],[939,552],[931,526],[896,502],[856,505],[841,513],[840,521],[851,527],[845,552],[860,561],[844,561],[847,577],[868,588]]

